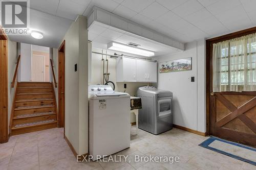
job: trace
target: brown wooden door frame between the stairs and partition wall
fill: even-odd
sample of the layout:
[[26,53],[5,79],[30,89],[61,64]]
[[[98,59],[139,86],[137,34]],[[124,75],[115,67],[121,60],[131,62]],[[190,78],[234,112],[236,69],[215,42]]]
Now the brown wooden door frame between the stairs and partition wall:
[[65,127],[65,40],[58,50],[58,127]]

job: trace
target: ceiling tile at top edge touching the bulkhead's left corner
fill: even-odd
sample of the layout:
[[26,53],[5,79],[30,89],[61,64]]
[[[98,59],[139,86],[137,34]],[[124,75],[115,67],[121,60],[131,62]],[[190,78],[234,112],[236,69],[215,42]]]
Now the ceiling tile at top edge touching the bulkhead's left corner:
[[60,0],[56,15],[75,20],[77,15],[81,15],[89,4],[90,1]]

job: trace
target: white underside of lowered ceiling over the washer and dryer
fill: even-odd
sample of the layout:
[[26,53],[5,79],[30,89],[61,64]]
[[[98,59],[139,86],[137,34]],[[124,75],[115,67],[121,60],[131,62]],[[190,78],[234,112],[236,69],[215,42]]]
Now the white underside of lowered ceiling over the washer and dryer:
[[108,25],[104,25],[103,23],[97,21],[94,21],[90,26],[88,31],[88,39],[92,41],[93,47],[103,48],[104,50],[107,50],[106,44],[108,44],[111,41],[119,42],[122,44],[133,42],[139,44],[139,48],[154,51],[154,57],[170,53],[177,53],[181,51],[175,47],[160,44],[158,42],[148,40],[141,36],[137,36],[135,34],[122,31]]

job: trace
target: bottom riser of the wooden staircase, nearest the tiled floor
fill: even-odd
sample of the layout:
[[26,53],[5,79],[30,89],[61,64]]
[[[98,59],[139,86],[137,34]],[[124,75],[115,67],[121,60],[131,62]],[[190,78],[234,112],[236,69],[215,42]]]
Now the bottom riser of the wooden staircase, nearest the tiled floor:
[[57,128],[57,120],[54,120],[53,122],[45,122],[45,123],[40,123],[40,124],[30,125],[30,126],[23,126],[18,128],[12,127],[12,135],[24,134],[24,133],[35,132],[35,131],[51,129],[51,128]]

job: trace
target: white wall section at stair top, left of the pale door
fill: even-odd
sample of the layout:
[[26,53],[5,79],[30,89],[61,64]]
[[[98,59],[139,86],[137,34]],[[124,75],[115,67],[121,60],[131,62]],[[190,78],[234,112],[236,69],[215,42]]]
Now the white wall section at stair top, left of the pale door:
[[20,43],[20,81],[31,81],[32,45]]

